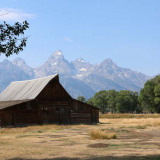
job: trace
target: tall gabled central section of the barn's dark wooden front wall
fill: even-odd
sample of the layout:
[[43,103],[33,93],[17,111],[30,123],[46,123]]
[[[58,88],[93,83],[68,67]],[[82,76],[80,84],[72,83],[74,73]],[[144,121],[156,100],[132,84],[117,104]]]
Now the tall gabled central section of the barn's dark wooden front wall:
[[37,100],[41,123],[70,124],[71,97],[59,82],[50,82]]

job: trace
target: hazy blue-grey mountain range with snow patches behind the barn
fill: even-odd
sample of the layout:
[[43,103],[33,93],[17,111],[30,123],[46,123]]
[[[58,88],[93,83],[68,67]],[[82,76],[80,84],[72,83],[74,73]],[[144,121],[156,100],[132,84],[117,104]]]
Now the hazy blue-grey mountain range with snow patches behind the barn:
[[90,98],[100,90],[139,91],[150,78],[131,69],[118,67],[111,59],[106,59],[98,65],[92,65],[82,58],[69,62],[61,51],[56,51],[38,68],[28,66],[21,58],[12,62],[1,62],[0,92],[12,81],[52,74],[60,75],[62,85],[74,98],[81,95]]

